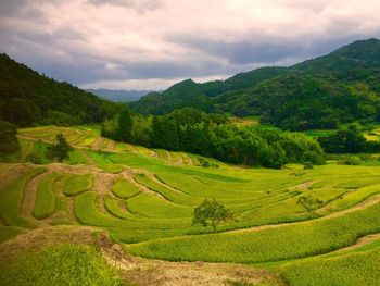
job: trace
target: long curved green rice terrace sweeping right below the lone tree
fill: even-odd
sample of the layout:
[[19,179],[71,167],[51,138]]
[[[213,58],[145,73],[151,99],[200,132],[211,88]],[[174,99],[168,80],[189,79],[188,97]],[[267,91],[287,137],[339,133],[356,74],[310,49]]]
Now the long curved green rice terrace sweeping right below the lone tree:
[[[132,254],[166,260],[261,263],[326,253],[380,231],[380,203],[344,216],[263,231],[187,236],[130,246]],[[207,248],[204,248],[207,246]]]

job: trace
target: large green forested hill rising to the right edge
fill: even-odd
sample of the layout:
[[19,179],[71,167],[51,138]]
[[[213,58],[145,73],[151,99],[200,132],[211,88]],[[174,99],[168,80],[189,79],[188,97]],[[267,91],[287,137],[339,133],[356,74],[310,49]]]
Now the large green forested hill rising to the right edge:
[[355,41],[290,67],[262,67],[224,82],[188,79],[131,104],[152,114],[182,107],[261,115],[263,122],[291,129],[372,121],[380,112],[380,40]]

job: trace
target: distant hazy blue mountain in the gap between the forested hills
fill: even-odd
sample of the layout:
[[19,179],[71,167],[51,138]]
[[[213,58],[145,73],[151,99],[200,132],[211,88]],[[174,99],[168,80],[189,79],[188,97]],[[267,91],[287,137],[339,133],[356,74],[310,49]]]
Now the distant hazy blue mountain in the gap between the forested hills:
[[136,101],[147,96],[152,90],[114,90],[114,89],[86,89],[98,97],[115,102]]

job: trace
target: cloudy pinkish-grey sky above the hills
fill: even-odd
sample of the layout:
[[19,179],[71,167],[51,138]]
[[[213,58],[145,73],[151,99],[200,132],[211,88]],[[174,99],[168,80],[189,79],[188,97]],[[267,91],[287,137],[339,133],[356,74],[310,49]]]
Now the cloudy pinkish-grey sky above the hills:
[[164,89],[380,38],[380,0],[0,0],[0,52],[83,88]]

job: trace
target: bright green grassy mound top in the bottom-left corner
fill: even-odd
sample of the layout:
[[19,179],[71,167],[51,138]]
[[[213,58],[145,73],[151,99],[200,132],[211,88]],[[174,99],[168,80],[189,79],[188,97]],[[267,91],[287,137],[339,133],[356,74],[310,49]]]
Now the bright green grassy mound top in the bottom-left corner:
[[93,248],[59,245],[40,252],[25,252],[0,265],[1,285],[116,286],[118,272]]

